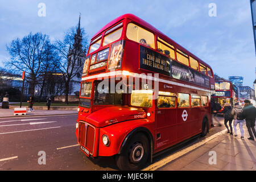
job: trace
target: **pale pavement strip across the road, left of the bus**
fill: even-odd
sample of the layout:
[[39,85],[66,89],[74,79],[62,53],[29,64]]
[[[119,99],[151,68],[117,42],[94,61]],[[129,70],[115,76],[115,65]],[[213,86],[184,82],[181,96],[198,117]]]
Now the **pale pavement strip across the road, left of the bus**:
[[39,115],[60,115],[60,114],[77,114],[77,110],[35,110],[26,115],[13,115],[14,109],[0,109],[0,118],[5,117],[28,117]]

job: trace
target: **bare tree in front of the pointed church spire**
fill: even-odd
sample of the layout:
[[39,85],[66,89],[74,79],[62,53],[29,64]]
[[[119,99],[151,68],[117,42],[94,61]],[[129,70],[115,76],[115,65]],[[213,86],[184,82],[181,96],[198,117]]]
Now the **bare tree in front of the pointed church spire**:
[[[84,36],[84,38],[82,38]],[[76,77],[81,77],[84,65],[86,49],[88,48],[88,38],[84,28],[69,28],[65,33],[64,40],[56,40],[55,47],[59,52],[59,72],[63,75],[65,85],[65,104],[68,104],[68,94],[72,90],[72,81]],[[80,78],[81,79],[81,78]],[[81,81],[81,80],[80,80]]]

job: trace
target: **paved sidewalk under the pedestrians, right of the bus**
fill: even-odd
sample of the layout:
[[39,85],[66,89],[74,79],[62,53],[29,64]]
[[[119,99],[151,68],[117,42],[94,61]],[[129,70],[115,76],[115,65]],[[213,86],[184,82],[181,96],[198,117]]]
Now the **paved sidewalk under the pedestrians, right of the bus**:
[[[256,171],[256,142],[247,139],[249,138],[249,133],[245,122],[243,125],[245,139],[240,138],[241,133],[238,125],[237,129],[238,137],[227,133],[222,134],[158,170]],[[209,164],[209,161],[213,162],[213,160],[211,160],[212,154],[210,154],[212,151],[216,152],[216,164]]]

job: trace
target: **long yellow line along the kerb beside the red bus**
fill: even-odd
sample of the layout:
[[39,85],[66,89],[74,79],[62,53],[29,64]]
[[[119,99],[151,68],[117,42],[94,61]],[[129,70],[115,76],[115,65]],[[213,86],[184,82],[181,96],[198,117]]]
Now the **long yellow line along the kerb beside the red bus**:
[[154,164],[151,164],[150,166],[144,168],[142,171],[155,171],[156,169],[163,167],[164,165],[172,162],[172,160],[175,160],[175,159],[179,158],[180,156],[183,156],[183,155],[187,154],[188,152],[195,150],[196,148],[202,146],[203,144],[209,142],[210,140],[212,140],[222,134],[225,134],[226,131],[227,131],[227,129],[222,130],[208,138],[205,138],[204,140],[201,140],[199,143],[193,144],[192,146],[184,148],[183,150],[176,152],[175,154],[172,154],[172,155],[168,156],[167,158],[164,158]]

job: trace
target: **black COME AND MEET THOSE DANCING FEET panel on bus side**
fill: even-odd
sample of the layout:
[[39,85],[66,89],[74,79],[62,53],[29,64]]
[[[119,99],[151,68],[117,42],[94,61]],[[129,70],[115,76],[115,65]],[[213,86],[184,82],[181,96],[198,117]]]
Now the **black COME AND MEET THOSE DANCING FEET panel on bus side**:
[[140,46],[140,68],[170,76],[170,59],[149,48]]

